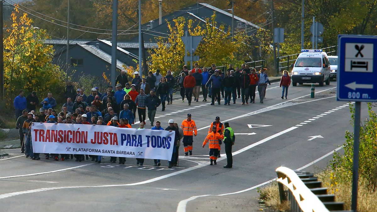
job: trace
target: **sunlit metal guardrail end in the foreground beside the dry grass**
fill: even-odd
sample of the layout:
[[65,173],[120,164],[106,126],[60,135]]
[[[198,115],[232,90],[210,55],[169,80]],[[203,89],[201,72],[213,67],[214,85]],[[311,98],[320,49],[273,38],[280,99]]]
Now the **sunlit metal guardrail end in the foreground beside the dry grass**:
[[276,174],[280,202],[288,201],[291,212],[345,212],[344,203],[335,202],[335,196],[327,194],[327,189],[313,174],[295,172],[283,166],[276,169]]

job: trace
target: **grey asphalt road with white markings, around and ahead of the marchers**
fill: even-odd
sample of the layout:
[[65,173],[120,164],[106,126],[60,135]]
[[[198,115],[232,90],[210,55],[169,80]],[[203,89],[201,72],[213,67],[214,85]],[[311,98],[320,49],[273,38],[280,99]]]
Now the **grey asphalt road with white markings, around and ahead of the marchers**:
[[[309,171],[325,167],[331,160],[329,153],[344,143],[344,132],[353,131],[348,103],[336,101],[334,84],[316,87],[314,99],[309,98],[310,86],[303,85],[290,87],[288,100],[282,100],[279,84],[273,83],[264,104],[241,105],[237,100],[230,106],[201,101],[188,106],[187,101],[174,101],[166,111],[160,109],[155,120],[166,127],[170,118],[180,124],[190,113],[199,129],[193,156],[180,156],[178,168],[167,168],[167,161],[152,167],[152,160],[146,160],[146,166],[137,166],[135,159],[127,159],[125,165],[113,164],[108,157],[101,164],[35,161],[17,155],[17,149],[8,150],[14,157],[0,160],[0,210],[239,211],[240,207],[231,201],[228,204],[224,197],[218,204],[216,196],[195,196],[245,198],[256,194],[253,188],[275,178],[276,167]],[[363,118],[366,112],[362,104]],[[222,167],[226,164],[224,150],[218,165],[209,166],[208,146],[201,147],[216,116],[228,121],[236,133],[232,169]],[[323,138],[311,137],[319,135]],[[203,204],[206,198],[211,204]]]

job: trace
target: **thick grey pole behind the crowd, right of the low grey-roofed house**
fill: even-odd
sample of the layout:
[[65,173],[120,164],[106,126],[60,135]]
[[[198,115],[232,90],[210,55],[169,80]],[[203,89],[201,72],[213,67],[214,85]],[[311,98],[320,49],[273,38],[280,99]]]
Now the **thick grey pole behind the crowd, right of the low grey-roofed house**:
[[116,32],[118,29],[118,0],[113,0],[113,27],[111,39],[111,73],[110,84],[115,88],[115,71],[116,71]]

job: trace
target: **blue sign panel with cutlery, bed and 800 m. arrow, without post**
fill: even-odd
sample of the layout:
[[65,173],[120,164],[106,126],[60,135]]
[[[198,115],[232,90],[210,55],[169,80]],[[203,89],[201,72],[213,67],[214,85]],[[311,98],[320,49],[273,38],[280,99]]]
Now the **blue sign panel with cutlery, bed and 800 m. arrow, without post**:
[[377,101],[377,37],[338,35],[337,100]]

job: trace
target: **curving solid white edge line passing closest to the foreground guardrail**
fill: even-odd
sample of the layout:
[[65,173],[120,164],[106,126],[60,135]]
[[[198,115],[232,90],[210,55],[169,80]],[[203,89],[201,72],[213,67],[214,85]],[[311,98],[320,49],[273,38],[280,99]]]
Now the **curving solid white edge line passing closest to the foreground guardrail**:
[[[300,171],[302,169],[305,169],[306,167],[308,166],[311,166],[313,165],[314,163],[317,163],[318,161],[322,160],[323,158],[326,158],[328,157],[329,155],[333,154],[334,152],[338,151],[339,149],[342,149],[343,147],[338,147],[336,148],[334,151],[331,151],[329,153],[327,153],[326,155],[323,155],[322,157],[318,158],[317,160],[314,160],[308,164],[306,164],[305,166],[302,166],[298,169],[296,169],[296,171]],[[231,195],[231,194],[239,194],[239,193],[242,193],[242,192],[246,192],[246,191],[249,191],[249,190],[253,190],[257,187],[261,187],[261,186],[264,186],[265,184],[268,184],[268,183],[271,183],[272,181],[275,181],[277,178],[274,178],[272,180],[269,180],[269,181],[266,181],[264,183],[261,183],[261,184],[258,184],[256,186],[253,186],[253,187],[250,187],[250,188],[247,188],[247,189],[244,189],[244,190],[240,190],[240,191],[237,191],[237,192],[232,192],[232,193],[226,193],[226,194],[217,194],[217,195],[214,195],[214,194],[205,194],[205,195],[198,195],[198,196],[193,196],[193,197],[190,197],[190,198],[187,198],[185,200],[182,200],[178,203],[178,206],[177,206],[177,212],[186,212],[186,206],[187,206],[187,203],[191,200],[195,200],[196,198],[198,197],[208,197],[208,196],[225,196],[225,195]]]

